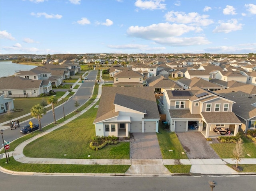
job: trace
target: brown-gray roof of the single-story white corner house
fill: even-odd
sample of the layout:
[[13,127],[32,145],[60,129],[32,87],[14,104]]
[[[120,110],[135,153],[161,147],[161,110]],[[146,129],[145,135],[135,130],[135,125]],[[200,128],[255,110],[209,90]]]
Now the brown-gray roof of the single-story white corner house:
[[118,116],[114,104],[146,112],[146,119],[160,118],[152,87],[103,87],[94,123]]

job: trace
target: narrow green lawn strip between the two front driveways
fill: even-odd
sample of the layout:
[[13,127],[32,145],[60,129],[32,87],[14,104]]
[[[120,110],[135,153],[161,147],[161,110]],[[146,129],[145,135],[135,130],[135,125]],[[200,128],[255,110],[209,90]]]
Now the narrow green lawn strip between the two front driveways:
[[[163,159],[188,159],[178,137],[174,132],[168,132],[159,124],[159,133],[157,134],[160,150]],[[169,151],[173,150],[173,151]],[[184,152],[185,154],[182,154]]]

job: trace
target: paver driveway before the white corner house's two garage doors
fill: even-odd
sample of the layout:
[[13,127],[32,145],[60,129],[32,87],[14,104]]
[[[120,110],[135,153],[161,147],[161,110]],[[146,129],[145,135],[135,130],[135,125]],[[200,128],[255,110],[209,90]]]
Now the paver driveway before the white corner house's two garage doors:
[[162,159],[156,133],[132,133],[130,159]]

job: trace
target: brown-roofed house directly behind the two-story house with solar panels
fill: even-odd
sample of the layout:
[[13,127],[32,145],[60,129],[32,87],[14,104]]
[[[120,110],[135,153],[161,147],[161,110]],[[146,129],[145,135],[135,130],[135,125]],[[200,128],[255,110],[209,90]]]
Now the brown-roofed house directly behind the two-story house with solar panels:
[[178,79],[177,83],[185,90],[191,89],[192,87],[200,87],[202,89],[210,90],[210,91],[216,91],[216,90],[222,89],[221,86],[198,77],[194,77],[192,79],[187,79],[187,78]]

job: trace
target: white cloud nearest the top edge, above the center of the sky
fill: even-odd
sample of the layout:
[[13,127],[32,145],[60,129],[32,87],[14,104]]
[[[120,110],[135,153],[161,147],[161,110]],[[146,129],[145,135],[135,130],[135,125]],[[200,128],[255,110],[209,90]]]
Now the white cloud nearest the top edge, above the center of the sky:
[[164,0],[150,0],[150,1],[137,0],[134,5],[138,8],[141,8],[142,10],[165,9],[166,4],[162,4],[161,2],[164,2]]

